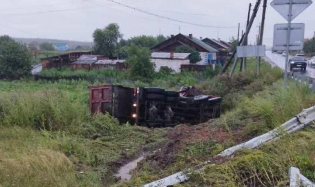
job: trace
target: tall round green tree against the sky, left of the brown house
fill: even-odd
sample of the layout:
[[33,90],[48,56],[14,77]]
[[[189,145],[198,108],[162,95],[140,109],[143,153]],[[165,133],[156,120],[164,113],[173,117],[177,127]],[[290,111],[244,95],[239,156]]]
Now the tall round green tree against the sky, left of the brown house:
[[93,33],[94,51],[97,54],[106,55],[113,58],[117,55],[118,41],[123,35],[119,31],[116,23],[107,25],[104,29],[96,29]]

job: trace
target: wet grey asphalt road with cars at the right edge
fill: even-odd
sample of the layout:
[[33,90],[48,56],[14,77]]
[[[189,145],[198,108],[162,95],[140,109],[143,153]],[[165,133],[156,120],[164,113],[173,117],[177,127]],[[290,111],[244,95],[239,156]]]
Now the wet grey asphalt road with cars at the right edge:
[[[290,57],[289,57],[290,58]],[[281,69],[284,69],[285,65],[285,57],[281,54],[272,53],[271,51],[266,51],[266,58],[265,60],[269,61],[272,65],[276,65]],[[290,71],[288,69],[288,71]],[[301,72],[300,69],[293,69],[294,72],[299,72],[300,74],[315,78],[315,69],[311,67],[306,68],[306,72]]]

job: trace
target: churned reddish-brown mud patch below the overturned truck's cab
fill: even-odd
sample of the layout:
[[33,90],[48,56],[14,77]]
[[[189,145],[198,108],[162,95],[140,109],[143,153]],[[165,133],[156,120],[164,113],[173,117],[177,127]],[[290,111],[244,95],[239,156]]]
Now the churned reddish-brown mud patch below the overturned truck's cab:
[[238,144],[246,140],[243,135],[243,128],[232,129],[228,132],[222,127],[213,124],[199,125],[178,125],[170,129],[167,137],[168,141],[162,148],[152,154],[148,154],[144,162],[151,162],[155,169],[164,169],[175,163],[177,153],[187,146],[210,140],[221,144]]

